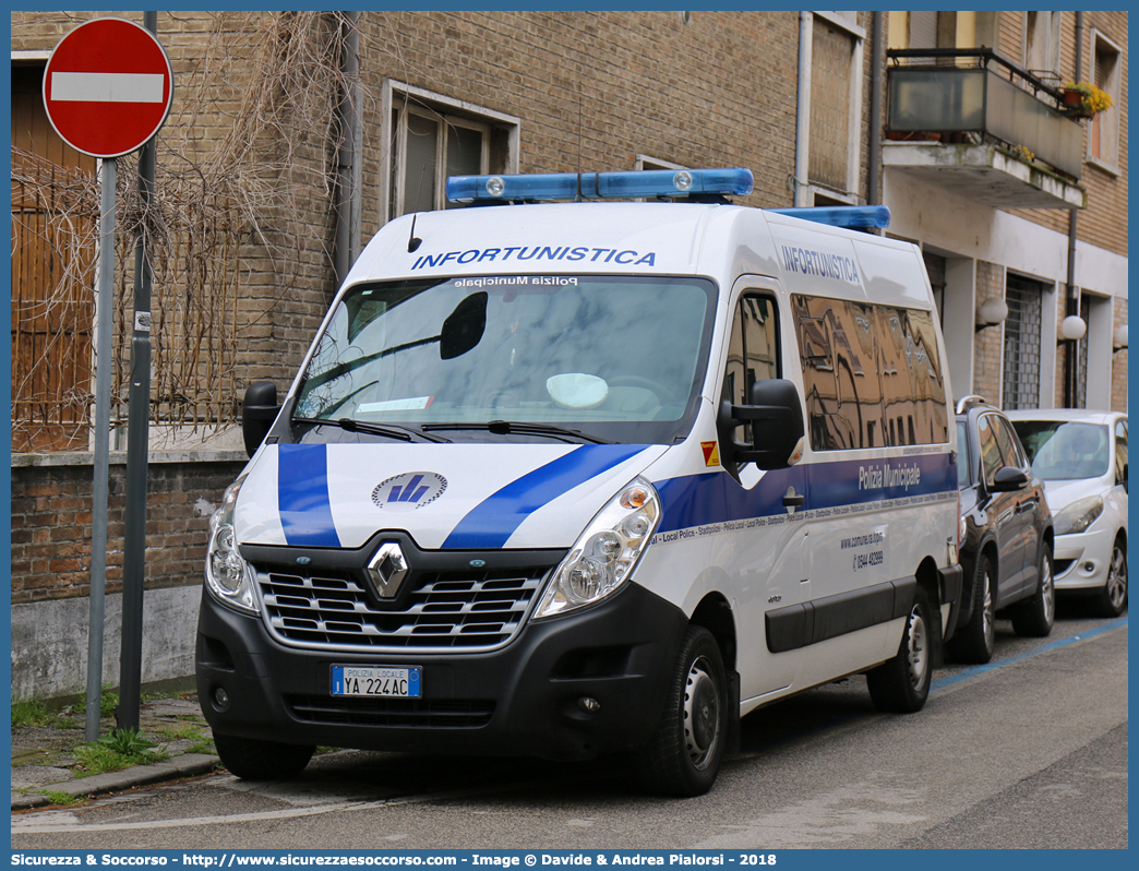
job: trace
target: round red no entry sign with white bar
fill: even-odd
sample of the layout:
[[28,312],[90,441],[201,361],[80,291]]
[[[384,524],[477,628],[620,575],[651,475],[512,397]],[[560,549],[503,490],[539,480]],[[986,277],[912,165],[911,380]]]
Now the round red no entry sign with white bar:
[[95,157],[118,157],[146,145],[166,120],[173,92],[162,44],[123,18],[81,24],[59,41],[43,73],[51,125],[69,146]]

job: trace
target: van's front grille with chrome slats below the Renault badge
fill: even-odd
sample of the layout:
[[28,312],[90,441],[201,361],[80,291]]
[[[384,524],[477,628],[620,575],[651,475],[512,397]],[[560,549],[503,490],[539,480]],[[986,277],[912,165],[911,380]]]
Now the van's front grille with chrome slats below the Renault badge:
[[548,571],[417,572],[391,609],[377,607],[350,571],[259,570],[257,585],[270,632],[292,646],[474,651],[500,646],[517,634]]

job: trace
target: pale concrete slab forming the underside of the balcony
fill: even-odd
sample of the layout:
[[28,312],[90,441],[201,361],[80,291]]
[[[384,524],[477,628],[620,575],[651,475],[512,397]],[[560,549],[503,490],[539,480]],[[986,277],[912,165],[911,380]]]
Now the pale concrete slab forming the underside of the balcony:
[[993,209],[1083,209],[1079,185],[1030,166],[995,145],[884,143],[883,166]]

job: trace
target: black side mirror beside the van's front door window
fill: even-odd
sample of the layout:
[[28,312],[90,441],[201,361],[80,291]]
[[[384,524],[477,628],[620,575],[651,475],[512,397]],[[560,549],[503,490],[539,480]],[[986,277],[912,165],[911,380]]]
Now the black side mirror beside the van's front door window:
[[[732,462],[786,469],[805,432],[798,390],[786,378],[764,378],[752,385],[749,400],[747,405],[724,402],[721,431],[729,438],[721,438],[721,445],[730,445]],[[751,443],[730,438],[730,431],[740,423],[751,424]]]

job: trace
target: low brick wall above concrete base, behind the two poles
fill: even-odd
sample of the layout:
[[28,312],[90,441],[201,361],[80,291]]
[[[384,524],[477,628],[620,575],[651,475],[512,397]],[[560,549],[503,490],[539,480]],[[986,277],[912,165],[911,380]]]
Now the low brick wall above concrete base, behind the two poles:
[[[146,587],[202,581],[210,514],[240,472],[244,455],[222,462],[188,455],[148,465]],[[109,470],[108,593],[122,589],[125,459]],[[17,455],[11,469],[11,601],[87,596],[91,571],[90,455]]]

